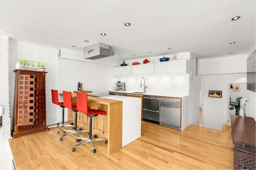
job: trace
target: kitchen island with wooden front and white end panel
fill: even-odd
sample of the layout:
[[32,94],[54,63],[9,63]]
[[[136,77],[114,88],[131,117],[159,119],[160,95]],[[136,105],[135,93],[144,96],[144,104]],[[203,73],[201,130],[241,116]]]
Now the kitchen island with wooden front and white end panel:
[[[63,94],[60,94],[63,95]],[[138,139],[140,137],[140,127],[141,127],[141,121],[140,121],[140,107],[141,103],[140,100],[137,98],[131,98],[131,97],[125,97],[118,100],[113,100],[110,98],[98,98],[93,96],[88,96],[88,107],[90,109],[98,109],[106,112],[105,116],[105,129],[104,134],[99,133],[98,131],[95,131],[92,128],[92,135],[97,134],[98,138],[106,138],[108,140],[108,154],[112,154],[116,150],[121,149],[128,143]],[[116,99],[114,96],[112,97]],[[128,102],[127,102],[128,101]],[[72,102],[76,104],[76,94],[72,93]],[[127,106],[127,104],[130,105],[130,109],[138,108],[134,111],[127,110],[127,107],[124,110],[124,106]],[[138,105],[138,106],[137,106]],[[87,121],[86,114],[82,112],[77,113],[77,128],[82,127],[83,130],[89,130],[89,119]],[[134,120],[135,122],[139,122],[139,128],[137,130],[128,131],[127,129],[129,127],[134,126],[134,123],[130,122],[129,119],[124,119],[123,117],[131,117],[132,119],[138,119],[138,121]],[[74,117],[73,111],[71,109],[68,109],[68,117]],[[99,129],[102,131],[103,127],[103,116],[98,115],[95,117],[95,127],[96,129]],[[74,119],[72,120],[74,122]],[[92,127],[94,126],[94,121],[92,121]],[[132,123],[132,124],[131,124]],[[137,123],[138,124],[138,123]],[[138,126],[138,125],[137,125]],[[127,133],[128,132],[128,133]],[[137,135],[136,135],[137,134]],[[82,134],[81,134],[82,136]],[[129,139],[127,142],[126,139]],[[102,141],[103,142],[103,141]],[[97,146],[97,144],[96,144]]]

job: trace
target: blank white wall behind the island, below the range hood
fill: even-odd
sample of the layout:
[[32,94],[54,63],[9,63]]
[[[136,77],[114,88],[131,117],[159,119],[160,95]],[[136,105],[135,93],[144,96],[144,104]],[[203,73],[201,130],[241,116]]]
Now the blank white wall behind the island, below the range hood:
[[114,68],[110,65],[58,59],[58,90],[77,91],[80,82],[84,90],[108,94],[113,74]]

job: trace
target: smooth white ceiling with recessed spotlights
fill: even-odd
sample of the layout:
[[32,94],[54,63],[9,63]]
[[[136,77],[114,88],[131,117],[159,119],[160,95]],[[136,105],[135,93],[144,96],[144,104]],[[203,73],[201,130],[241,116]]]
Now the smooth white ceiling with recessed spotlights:
[[255,0],[0,0],[0,35],[78,51],[101,42],[122,60],[226,57],[255,43],[255,9]]

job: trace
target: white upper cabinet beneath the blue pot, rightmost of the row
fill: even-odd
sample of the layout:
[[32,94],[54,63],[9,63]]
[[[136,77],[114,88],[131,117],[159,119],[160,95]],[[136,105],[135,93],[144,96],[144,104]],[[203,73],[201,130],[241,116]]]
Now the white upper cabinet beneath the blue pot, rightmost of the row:
[[189,61],[184,59],[155,63],[154,73],[189,73]]

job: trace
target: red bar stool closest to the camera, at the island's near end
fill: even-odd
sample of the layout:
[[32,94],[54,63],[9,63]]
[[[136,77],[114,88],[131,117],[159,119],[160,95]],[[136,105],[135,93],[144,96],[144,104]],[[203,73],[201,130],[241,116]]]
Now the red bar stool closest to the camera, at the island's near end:
[[92,117],[96,117],[98,114],[105,114],[104,111],[96,110],[96,109],[89,109],[88,108],[88,100],[87,100],[87,93],[77,93],[76,94],[76,104],[77,104],[77,110],[85,113],[88,117],[90,117],[90,131],[89,131],[89,138],[83,138],[78,137],[78,140],[84,140],[84,142],[79,143],[74,148],[72,148],[72,152],[76,150],[76,147],[79,145],[86,144],[90,142],[94,149],[92,149],[92,152],[96,152],[96,147],[93,143],[93,141],[105,141],[105,143],[108,143],[107,139],[96,139],[96,134],[92,138]]

